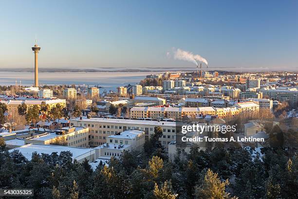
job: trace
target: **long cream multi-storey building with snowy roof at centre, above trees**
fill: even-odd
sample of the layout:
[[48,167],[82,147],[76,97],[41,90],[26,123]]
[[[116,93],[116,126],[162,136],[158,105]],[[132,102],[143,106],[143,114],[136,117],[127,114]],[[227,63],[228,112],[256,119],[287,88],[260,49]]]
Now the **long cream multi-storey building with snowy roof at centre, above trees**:
[[71,125],[89,128],[89,145],[99,146],[107,141],[107,137],[117,135],[126,130],[140,130],[145,132],[145,140],[154,134],[154,127],[163,128],[163,137],[160,139],[167,149],[168,143],[175,140],[176,123],[172,121],[153,121],[139,119],[109,119],[109,118],[83,118],[72,119]]

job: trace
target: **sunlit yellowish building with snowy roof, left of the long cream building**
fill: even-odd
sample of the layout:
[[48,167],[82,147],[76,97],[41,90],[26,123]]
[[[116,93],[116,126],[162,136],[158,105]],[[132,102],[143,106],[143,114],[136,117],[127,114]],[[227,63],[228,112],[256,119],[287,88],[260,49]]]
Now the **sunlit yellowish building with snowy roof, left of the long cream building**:
[[25,138],[25,144],[53,144],[61,140],[66,146],[87,148],[89,129],[85,127],[63,127],[54,132],[34,135]]

